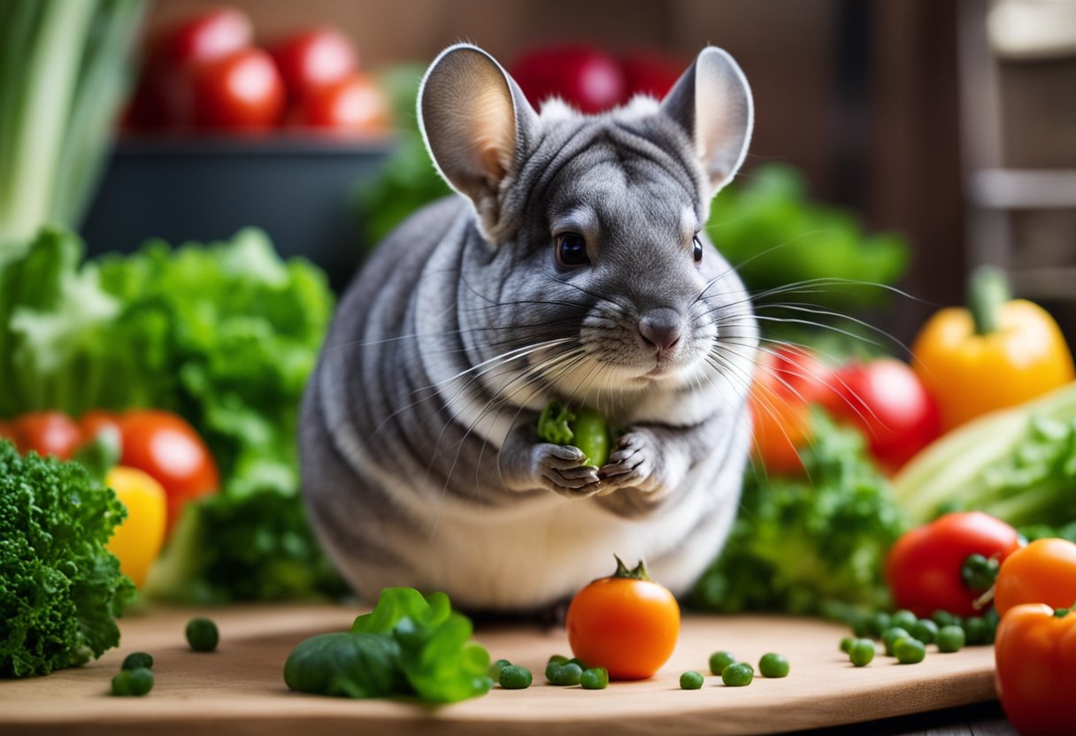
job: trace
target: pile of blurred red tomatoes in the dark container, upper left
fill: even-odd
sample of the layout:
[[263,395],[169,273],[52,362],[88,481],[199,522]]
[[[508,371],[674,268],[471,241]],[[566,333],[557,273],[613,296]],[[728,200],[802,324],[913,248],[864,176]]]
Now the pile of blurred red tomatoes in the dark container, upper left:
[[388,101],[360,71],[351,40],[302,30],[267,47],[233,8],[208,11],[150,39],[125,124],[136,130],[259,131],[280,126],[384,130]]

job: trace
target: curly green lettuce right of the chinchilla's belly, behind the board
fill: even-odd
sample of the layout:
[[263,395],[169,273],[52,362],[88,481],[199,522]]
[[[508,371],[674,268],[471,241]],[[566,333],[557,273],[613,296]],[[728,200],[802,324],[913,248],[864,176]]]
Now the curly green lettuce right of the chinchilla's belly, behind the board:
[[821,412],[812,424],[806,477],[749,468],[739,515],[693,606],[844,618],[888,604],[883,561],[907,527],[904,514],[859,431]]

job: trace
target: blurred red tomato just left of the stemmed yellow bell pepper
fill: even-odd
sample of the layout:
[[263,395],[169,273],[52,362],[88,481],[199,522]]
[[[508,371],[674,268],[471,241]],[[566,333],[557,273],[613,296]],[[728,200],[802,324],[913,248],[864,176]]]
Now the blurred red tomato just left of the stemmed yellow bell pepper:
[[896,470],[942,434],[937,402],[905,363],[878,358],[837,371],[825,407],[863,429],[870,453]]

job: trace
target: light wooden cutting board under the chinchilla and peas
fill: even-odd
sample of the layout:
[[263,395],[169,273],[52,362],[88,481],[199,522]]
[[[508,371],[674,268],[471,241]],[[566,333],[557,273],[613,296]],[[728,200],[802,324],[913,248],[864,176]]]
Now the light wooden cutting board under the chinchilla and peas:
[[[369,734],[650,733],[756,734],[854,723],[966,705],[994,696],[993,648],[954,654],[928,648],[926,659],[900,665],[879,655],[852,667],[838,651],[847,632],[832,623],[778,617],[690,615],[669,663],[643,682],[607,690],[555,688],[542,673],[551,654],[570,654],[563,629],[501,626],[476,636],[493,659],[528,667],[528,690],[499,688],[452,706],[399,700],[348,700],[292,693],[283,667],[292,648],[314,634],[345,631],[358,609],[342,606],[154,610],[123,620],[123,645],[84,667],[28,680],[0,680],[0,734],[278,734],[329,730]],[[216,652],[192,652],[186,621],[209,615],[221,629]],[[788,656],[784,679],[756,677],[726,688],[710,676],[718,649],[756,663],[768,651]],[[111,697],[123,657],[147,651],[156,684],[147,696]],[[680,674],[707,675],[702,690],[679,687]]]

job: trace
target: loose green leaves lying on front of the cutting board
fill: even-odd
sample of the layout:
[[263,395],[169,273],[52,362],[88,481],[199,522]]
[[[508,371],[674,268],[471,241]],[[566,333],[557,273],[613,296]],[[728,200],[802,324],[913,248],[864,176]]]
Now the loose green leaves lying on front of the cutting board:
[[492,687],[490,654],[471,634],[470,621],[452,610],[443,593],[387,588],[350,633],[300,642],[284,665],[284,681],[320,695],[464,700]]

